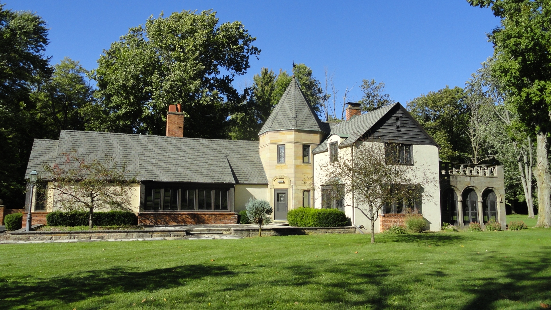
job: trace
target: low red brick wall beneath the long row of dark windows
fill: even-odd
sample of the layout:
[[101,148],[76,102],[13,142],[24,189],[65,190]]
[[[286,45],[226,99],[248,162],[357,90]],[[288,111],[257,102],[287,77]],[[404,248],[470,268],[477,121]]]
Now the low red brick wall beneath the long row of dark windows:
[[138,225],[237,224],[234,212],[143,212]]

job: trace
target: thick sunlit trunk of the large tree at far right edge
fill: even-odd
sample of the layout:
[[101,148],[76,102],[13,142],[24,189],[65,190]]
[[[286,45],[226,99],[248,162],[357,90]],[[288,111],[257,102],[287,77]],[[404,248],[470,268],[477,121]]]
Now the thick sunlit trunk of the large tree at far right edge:
[[551,174],[547,160],[547,132],[538,132],[536,139],[536,171],[534,171],[538,186],[538,224],[536,227],[548,228],[551,226]]

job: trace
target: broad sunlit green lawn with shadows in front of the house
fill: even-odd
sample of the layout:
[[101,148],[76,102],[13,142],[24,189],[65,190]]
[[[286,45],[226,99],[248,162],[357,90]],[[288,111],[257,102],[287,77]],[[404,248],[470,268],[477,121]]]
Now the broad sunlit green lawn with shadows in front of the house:
[[551,230],[377,235],[376,240],[311,235],[4,244],[0,309],[541,309],[541,302],[551,304]]

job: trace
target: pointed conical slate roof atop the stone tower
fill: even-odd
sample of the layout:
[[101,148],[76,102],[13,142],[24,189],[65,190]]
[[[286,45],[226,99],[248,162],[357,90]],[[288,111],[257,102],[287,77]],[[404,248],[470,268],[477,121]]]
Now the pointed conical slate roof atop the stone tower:
[[287,86],[285,93],[258,134],[288,129],[329,132],[329,128],[320,121],[314,108],[306,101],[295,78]]

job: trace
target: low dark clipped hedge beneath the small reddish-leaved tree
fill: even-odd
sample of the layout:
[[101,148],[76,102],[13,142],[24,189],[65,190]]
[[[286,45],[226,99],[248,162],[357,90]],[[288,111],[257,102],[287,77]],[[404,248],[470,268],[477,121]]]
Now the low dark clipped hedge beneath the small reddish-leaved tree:
[[[53,211],[46,215],[48,226],[87,226],[88,211]],[[128,211],[94,212],[94,226],[138,225],[136,214]]]

